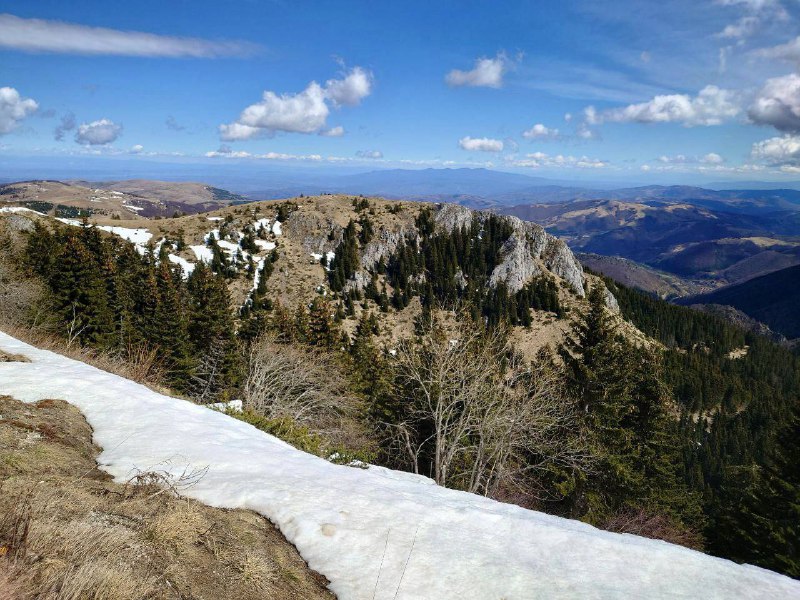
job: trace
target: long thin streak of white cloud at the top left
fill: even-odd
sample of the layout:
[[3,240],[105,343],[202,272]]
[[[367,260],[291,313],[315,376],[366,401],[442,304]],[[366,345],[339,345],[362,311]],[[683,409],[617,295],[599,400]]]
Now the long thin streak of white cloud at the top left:
[[172,58],[247,56],[258,48],[247,42],[121,31],[63,21],[21,19],[9,14],[0,15],[0,47],[26,52]]

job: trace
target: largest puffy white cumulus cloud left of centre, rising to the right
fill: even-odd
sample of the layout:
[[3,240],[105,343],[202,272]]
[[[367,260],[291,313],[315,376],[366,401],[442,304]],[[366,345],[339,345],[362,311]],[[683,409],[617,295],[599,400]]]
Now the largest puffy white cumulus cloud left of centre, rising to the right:
[[341,127],[326,129],[330,102],[334,107],[355,106],[372,90],[372,75],[355,67],[343,79],[329,79],[325,87],[316,81],[297,94],[265,91],[260,102],[245,108],[234,123],[220,125],[223,140],[271,137],[276,132],[341,135]]

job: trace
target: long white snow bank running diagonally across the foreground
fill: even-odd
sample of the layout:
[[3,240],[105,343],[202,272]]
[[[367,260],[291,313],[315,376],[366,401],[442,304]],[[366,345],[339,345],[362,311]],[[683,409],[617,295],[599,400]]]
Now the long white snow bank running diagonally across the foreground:
[[388,469],[338,466],[222,413],[0,333],[0,393],[77,406],[117,480],[208,467],[185,490],[276,523],[344,599],[800,598],[800,582]]

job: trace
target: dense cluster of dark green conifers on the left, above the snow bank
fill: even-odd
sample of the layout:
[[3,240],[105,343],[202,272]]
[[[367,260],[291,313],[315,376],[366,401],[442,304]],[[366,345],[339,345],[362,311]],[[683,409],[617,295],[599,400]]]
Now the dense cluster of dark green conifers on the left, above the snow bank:
[[240,377],[227,285],[202,263],[185,281],[160,254],[141,256],[94,227],[37,224],[25,256],[49,284],[70,343],[123,355],[153,349],[176,390],[217,397]]

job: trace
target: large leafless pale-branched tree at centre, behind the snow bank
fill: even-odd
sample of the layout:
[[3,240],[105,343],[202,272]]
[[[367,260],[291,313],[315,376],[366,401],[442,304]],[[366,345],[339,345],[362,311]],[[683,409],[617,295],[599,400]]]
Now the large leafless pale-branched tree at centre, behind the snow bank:
[[499,329],[434,319],[401,342],[396,374],[402,418],[387,423],[415,473],[485,495],[551,466],[585,469],[588,452],[552,362],[526,364]]

